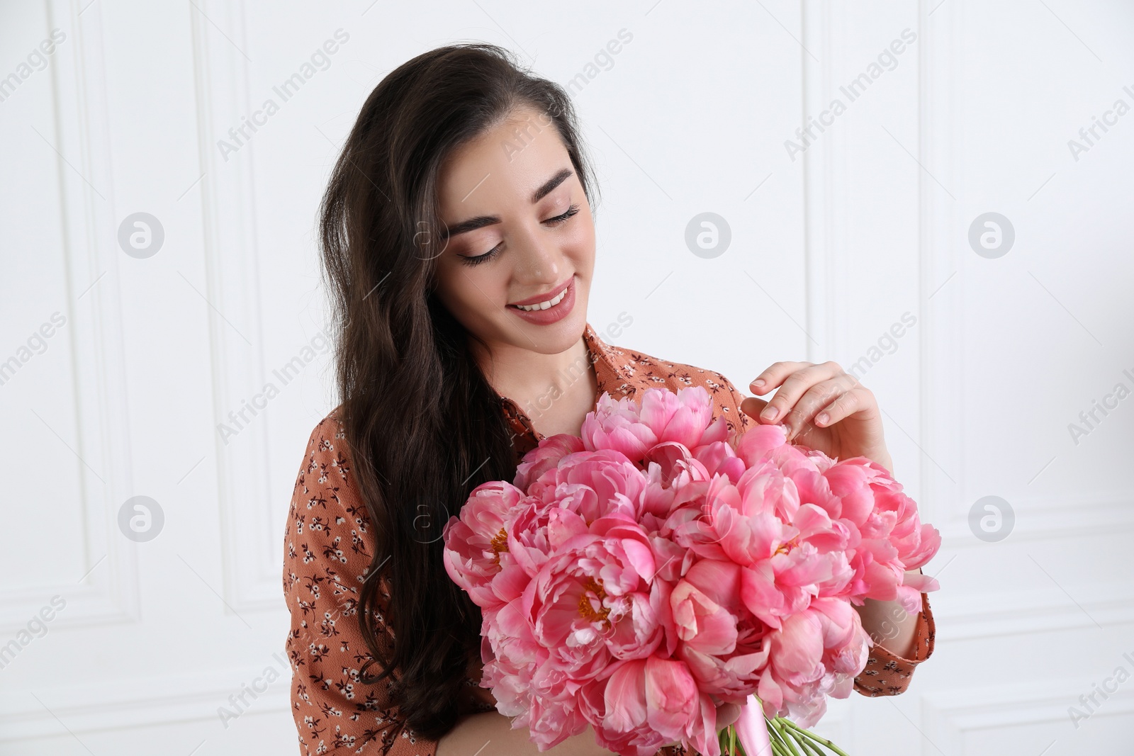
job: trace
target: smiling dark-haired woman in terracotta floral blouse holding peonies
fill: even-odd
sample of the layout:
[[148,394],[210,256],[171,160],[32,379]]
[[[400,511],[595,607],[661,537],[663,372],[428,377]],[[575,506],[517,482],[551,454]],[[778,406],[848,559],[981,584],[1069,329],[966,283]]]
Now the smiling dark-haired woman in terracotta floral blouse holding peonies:
[[[566,93],[499,48],[418,56],[363,105],[321,216],[342,404],[311,434],[285,536],[301,753],[538,753],[476,686],[480,610],[441,532],[540,439],[578,434],[603,391],[702,385],[731,431],[785,423],[890,467],[873,397],[833,363],[776,363],[753,383],[778,389],[765,407],[719,373],[608,346],[586,320],[594,192]],[[922,597],[916,617],[861,608],[886,645],[860,693],[902,693],[932,652]],[[606,753],[590,731],[556,750]]]

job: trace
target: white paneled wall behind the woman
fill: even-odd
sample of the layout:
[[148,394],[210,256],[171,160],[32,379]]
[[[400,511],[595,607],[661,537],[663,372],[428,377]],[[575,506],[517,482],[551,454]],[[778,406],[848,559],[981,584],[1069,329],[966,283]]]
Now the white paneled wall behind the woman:
[[[620,29],[575,95],[603,190],[590,321],[625,311],[615,342],[742,389],[778,359],[856,365],[945,535],[934,657],[818,729],[850,754],[1131,748],[1134,399],[1078,415],[1134,390],[1134,7],[691,5],[0,3],[0,754],[295,751],[279,576],[303,448],[336,404],[313,244],[336,151],[426,49],[501,43],[566,84]],[[221,150],[269,97],[279,112]],[[793,160],[785,141],[835,99]],[[1111,124],[1088,143],[1095,117]],[[685,243],[703,212],[731,235],[711,258]],[[1014,229],[998,257],[968,243],[989,212]],[[163,232],[147,257],[119,244],[135,213]],[[266,382],[279,396],[222,436]],[[151,541],[119,526],[138,495],[163,517]],[[1001,541],[970,526],[989,495],[1015,516]],[[1117,690],[1076,725],[1095,686]]]

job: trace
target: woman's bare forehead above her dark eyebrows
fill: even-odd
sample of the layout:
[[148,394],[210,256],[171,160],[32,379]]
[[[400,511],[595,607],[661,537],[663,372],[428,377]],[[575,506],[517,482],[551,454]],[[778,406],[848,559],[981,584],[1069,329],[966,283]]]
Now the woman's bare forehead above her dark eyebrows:
[[565,165],[570,167],[567,148],[550,117],[528,108],[515,110],[442,163],[441,214],[465,216],[503,202],[526,205],[532,193]]

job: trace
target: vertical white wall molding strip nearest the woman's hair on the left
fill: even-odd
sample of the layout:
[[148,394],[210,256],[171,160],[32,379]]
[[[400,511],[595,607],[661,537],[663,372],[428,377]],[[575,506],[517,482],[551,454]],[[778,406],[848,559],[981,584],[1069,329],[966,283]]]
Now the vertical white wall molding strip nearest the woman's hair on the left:
[[[217,139],[251,112],[243,2],[201,3],[193,15],[193,56],[197,87],[197,124],[209,313],[212,349],[213,425],[230,423],[266,376],[260,301],[260,253],[256,241],[254,176],[256,144],[223,161]],[[226,39],[209,20],[220,19]],[[220,313],[223,313],[222,316]],[[225,443],[214,434],[218,468],[226,601],[236,611],[277,609],[282,602],[277,552],[281,524],[269,495],[268,425],[256,423]]]

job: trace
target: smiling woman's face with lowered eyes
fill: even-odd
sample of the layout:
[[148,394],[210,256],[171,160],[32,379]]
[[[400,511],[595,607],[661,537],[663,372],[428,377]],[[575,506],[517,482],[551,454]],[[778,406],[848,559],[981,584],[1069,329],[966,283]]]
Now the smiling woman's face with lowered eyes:
[[[549,117],[517,109],[463,145],[439,176],[437,294],[494,352],[566,351],[586,328],[594,221]],[[559,301],[536,314],[516,305]],[[541,305],[542,306],[542,305]]]

